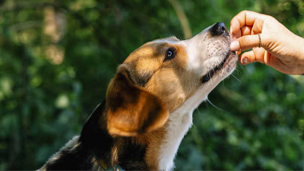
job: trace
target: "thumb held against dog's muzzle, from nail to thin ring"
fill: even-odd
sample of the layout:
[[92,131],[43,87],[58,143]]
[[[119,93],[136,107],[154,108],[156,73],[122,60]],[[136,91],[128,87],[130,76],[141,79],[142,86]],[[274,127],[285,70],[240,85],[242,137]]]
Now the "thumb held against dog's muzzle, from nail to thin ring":
[[[262,35],[262,34],[260,34]],[[253,47],[259,47],[259,36],[254,35],[244,35],[236,40],[234,40],[230,45],[231,51],[246,51]]]

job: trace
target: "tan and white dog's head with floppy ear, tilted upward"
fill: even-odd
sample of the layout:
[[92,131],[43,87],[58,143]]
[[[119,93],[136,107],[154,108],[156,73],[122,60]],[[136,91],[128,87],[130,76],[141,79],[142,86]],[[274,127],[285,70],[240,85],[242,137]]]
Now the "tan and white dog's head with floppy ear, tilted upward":
[[191,39],[157,39],[131,53],[106,93],[109,133],[136,136],[159,129],[186,100],[205,100],[236,67],[231,41],[224,24],[216,23]]

